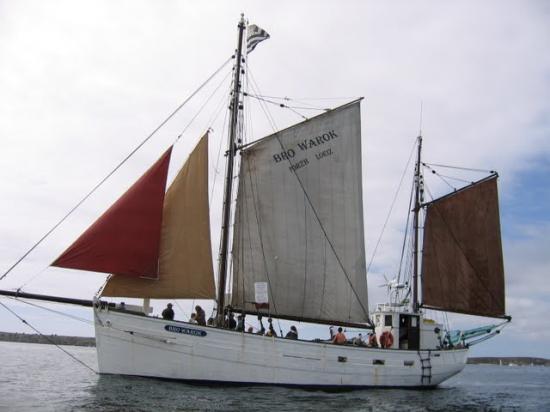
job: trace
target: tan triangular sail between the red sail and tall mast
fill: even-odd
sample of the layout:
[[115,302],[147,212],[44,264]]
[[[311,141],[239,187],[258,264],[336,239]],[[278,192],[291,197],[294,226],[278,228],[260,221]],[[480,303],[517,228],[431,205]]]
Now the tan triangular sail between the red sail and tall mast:
[[166,192],[158,279],[112,276],[103,296],[215,298],[208,208],[208,134]]

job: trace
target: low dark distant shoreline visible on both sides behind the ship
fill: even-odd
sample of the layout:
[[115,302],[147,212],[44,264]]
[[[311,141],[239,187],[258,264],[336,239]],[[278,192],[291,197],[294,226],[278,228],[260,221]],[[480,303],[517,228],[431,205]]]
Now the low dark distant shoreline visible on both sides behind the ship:
[[[32,333],[0,332],[0,341],[95,347],[95,338]],[[471,365],[550,366],[550,359],[533,357],[472,357]]]

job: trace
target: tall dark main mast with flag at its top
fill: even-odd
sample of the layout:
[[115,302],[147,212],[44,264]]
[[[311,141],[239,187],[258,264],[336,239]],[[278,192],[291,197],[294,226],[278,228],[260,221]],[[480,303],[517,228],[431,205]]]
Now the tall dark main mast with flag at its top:
[[222,234],[220,244],[220,260],[219,260],[219,276],[218,276],[218,308],[217,320],[218,324],[223,322],[223,310],[225,306],[225,280],[227,278],[227,262],[229,250],[229,227],[231,219],[231,194],[233,190],[233,166],[235,162],[235,141],[237,136],[237,122],[239,119],[239,94],[241,88],[241,61],[242,61],[242,45],[245,28],[244,15],[241,14],[239,22],[239,40],[237,43],[237,53],[235,58],[237,63],[234,66],[233,90],[231,95],[231,104],[229,106],[231,112],[231,122],[229,124],[229,141],[227,150],[227,169],[225,173],[225,194],[223,200],[223,216],[222,216]]

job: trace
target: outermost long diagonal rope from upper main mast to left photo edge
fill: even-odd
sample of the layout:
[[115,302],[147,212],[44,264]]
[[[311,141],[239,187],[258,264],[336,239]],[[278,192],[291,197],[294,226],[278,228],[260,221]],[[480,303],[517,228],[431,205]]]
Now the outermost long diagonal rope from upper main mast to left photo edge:
[[149,139],[151,139],[166,123],[168,123],[169,120],[171,120],[176,113],[180,111],[180,109],[185,106],[210,80],[212,80],[226,65],[232,60],[233,57],[230,57],[227,59],[213,74],[211,74],[206,81],[204,81],[197,90],[195,90],[193,93],[187,97],[181,103],[166,119],[164,119],[159,126],[157,126],[140,144],[138,144],[134,150],[130,152],[107,176],[105,176],[99,183],[97,183],[92,190],[90,190],[86,196],[84,196],[65,216],[61,218],[59,222],[57,222],[50,230],[46,232],[44,236],[42,236],[38,242],[36,242],[27,252],[23,254],[2,276],[0,276],[0,280],[4,279],[19,263],[23,261],[34,249],[38,247],[55,229],[59,227],[72,213],[82,205],[103,183],[107,181],[120,167],[126,163],[130,157],[132,157]]

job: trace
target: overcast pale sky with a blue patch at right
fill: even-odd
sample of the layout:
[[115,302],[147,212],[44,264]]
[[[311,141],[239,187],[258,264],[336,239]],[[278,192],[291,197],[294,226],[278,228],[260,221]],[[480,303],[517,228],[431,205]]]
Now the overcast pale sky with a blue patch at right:
[[[513,321],[472,354],[550,358],[550,6],[544,1],[0,1],[0,272],[227,61],[241,13],[271,35],[247,62],[256,92],[292,97],[296,106],[334,107],[364,97],[367,261],[420,128],[427,162],[498,171],[506,311]],[[49,263],[180,134],[172,176],[213,129],[211,202],[219,203],[226,126],[218,109],[226,104],[230,72],[226,65],[0,288],[91,298],[105,276]],[[221,93],[214,93],[218,86]],[[210,95],[214,108],[191,122]],[[252,113],[247,137],[270,134],[258,103],[245,104]],[[278,128],[301,120],[277,107],[270,113]],[[435,196],[448,189],[427,183]],[[407,192],[397,197],[376,248],[371,309],[385,301],[379,286],[399,264]],[[214,212],[214,255],[219,220]],[[45,333],[93,334],[84,322],[0,302]],[[85,309],[40,305],[91,319]],[[494,322],[450,319],[455,327]],[[0,325],[30,332],[3,308]]]

